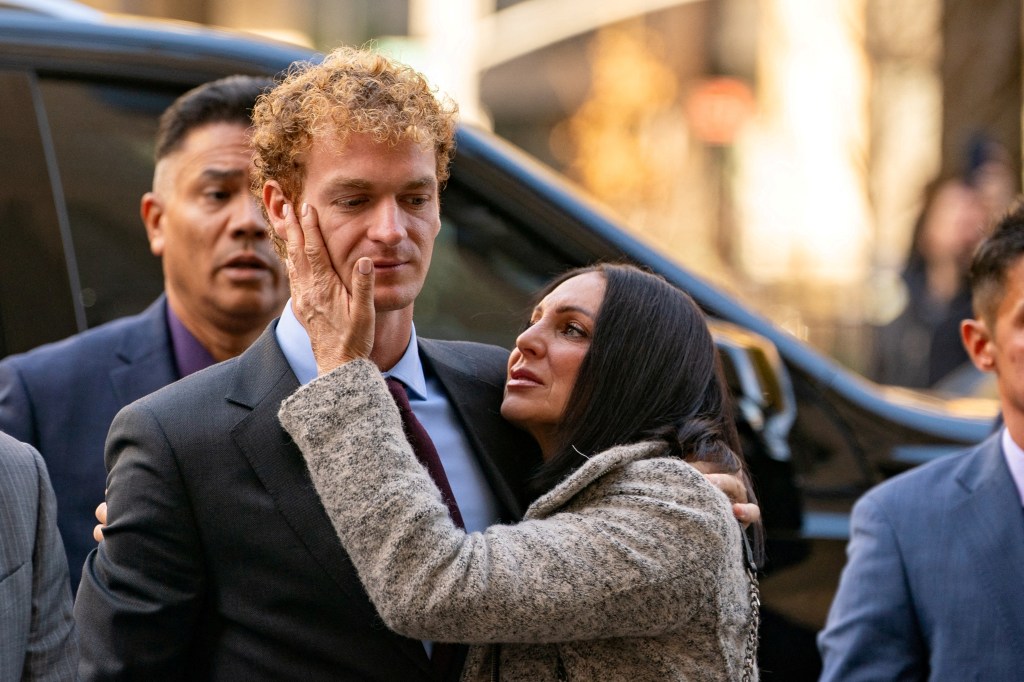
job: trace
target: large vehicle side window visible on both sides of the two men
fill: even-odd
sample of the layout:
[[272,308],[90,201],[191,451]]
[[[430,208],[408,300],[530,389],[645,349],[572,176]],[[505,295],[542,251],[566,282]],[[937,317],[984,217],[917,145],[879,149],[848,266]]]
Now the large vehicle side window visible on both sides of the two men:
[[[86,324],[137,312],[162,290],[138,202],[153,175],[157,119],[180,92],[67,78],[41,78],[39,91]],[[430,276],[417,299],[420,334],[511,347],[534,292],[572,263],[472,193],[446,191],[442,220]]]

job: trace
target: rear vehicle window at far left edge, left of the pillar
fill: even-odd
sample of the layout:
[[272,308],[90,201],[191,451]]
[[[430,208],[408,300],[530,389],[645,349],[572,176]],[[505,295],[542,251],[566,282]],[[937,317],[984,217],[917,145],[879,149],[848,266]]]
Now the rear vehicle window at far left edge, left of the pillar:
[[0,71],[0,92],[2,357],[78,329],[34,79],[27,72]]

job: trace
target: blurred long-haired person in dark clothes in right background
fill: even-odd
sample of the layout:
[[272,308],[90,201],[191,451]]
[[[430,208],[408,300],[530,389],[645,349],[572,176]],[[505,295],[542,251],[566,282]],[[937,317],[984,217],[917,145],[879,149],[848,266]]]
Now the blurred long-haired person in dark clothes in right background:
[[967,364],[959,340],[959,323],[971,316],[967,269],[987,221],[981,193],[967,181],[930,185],[902,272],[906,305],[877,330],[876,381],[929,388]]

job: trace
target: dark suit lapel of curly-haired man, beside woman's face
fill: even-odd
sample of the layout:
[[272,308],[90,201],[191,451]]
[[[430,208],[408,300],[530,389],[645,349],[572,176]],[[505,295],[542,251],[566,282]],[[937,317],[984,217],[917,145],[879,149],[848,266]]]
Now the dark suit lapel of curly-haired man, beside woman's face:
[[518,520],[529,506],[528,479],[541,462],[540,451],[524,431],[502,417],[504,363],[471,354],[473,346],[419,339],[425,364],[437,376],[476,451],[487,482],[503,506],[505,520]]

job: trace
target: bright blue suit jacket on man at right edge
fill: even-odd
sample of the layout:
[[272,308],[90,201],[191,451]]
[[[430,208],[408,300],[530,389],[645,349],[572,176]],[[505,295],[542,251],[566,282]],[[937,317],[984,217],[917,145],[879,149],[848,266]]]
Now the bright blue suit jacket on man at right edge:
[[1024,513],[999,438],[858,501],[822,680],[1022,679]]

